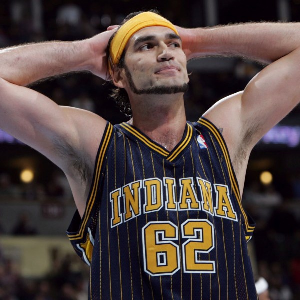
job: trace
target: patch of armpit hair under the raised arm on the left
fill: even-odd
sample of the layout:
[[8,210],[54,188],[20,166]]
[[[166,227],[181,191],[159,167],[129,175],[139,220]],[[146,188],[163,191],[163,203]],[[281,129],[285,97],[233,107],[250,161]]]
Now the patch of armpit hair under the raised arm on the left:
[[67,171],[75,176],[79,175],[82,181],[90,182],[92,180],[92,171],[90,168],[91,159],[82,155],[79,149],[75,148],[65,140],[57,138],[53,142],[54,151],[66,161],[68,161]]

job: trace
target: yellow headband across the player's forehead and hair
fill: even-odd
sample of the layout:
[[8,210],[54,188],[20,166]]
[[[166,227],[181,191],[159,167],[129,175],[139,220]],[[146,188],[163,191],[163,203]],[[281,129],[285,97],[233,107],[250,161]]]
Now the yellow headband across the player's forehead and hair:
[[131,36],[138,30],[150,26],[168,27],[178,34],[175,26],[164,17],[153,12],[142,12],[124,23],[113,37],[110,44],[111,61],[109,61],[109,67],[111,67],[111,63],[119,63],[122,53]]

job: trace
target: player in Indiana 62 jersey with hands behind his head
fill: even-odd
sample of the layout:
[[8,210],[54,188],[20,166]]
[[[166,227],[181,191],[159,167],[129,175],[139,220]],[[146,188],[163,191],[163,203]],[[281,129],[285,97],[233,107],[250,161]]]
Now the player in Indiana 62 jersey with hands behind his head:
[[[299,25],[183,29],[145,12],[109,29],[0,53],[0,126],[66,174],[78,209],[68,236],[91,265],[89,297],[257,299],[241,196],[251,149],[298,104]],[[207,55],[272,63],[186,122],[186,62]],[[132,107],[115,126],[23,87],[108,69]]]

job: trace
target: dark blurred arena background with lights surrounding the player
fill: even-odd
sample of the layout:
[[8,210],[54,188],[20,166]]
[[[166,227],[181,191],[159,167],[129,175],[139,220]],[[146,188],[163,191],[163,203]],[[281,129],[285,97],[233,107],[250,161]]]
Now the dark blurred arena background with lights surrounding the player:
[[[132,11],[153,8],[183,27],[300,18],[300,0],[1,0],[0,47],[87,38]],[[185,100],[193,121],[218,99],[242,90],[263,66],[206,58],[188,68],[192,74]],[[67,75],[32,88],[112,123],[127,120],[108,98],[110,85],[91,74]],[[243,197],[256,221],[249,245],[253,268],[269,282],[273,300],[300,299],[299,115],[294,109],[257,144]],[[65,235],[74,211],[63,173],[0,131],[0,299],[87,299],[88,268]]]

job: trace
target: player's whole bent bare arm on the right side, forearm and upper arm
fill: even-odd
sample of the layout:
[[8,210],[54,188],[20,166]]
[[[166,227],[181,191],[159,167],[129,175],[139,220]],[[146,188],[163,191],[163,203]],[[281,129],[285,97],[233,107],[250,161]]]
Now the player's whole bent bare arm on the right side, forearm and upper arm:
[[227,139],[233,148],[247,139],[251,149],[299,103],[300,23],[179,28],[179,34],[188,59],[239,56],[269,64],[244,92],[222,99],[205,114],[229,132]]

